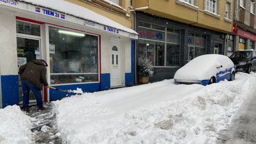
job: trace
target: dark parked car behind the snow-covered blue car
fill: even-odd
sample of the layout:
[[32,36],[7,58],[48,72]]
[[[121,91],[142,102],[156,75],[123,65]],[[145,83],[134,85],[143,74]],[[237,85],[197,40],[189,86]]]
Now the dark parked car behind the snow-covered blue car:
[[256,69],[255,50],[235,51],[229,58],[234,62],[236,71],[250,73]]

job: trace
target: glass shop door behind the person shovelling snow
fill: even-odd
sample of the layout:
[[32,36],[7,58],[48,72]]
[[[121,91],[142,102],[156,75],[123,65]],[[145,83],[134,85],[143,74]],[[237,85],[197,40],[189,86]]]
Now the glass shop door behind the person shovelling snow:
[[[29,38],[29,37],[17,37],[17,59],[18,59],[18,71],[20,66],[25,65],[27,62],[33,61],[34,59],[41,59],[40,52],[40,39]],[[23,103],[23,92],[22,85],[19,75],[19,99],[20,104]],[[29,93],[29,104],[34,105],[36,98],[34,93],[30,90]]]

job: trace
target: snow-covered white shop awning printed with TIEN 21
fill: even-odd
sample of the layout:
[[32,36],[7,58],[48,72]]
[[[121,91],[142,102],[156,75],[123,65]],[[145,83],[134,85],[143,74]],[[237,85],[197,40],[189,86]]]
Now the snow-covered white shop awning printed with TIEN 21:
[[[74,22],[86,27],[105,30],[109,33],[138,39],[138,33],[133,29],[127,28],[120,23],[86,9],[85,7],[63,0],[10,0],[4,2],[0,1],[0,5],[7,5],[64,21]],[[77,20],[74,21],[74,18]]]

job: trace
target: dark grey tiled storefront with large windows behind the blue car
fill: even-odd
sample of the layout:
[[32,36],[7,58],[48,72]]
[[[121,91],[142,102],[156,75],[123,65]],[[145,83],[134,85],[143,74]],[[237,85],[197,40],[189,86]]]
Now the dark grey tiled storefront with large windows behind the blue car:
[[147,58],[153,63],[151,82],[173,78],[175,71],[199,55],[225,54],[221,33],[141,12],[135,21],[136,61]]

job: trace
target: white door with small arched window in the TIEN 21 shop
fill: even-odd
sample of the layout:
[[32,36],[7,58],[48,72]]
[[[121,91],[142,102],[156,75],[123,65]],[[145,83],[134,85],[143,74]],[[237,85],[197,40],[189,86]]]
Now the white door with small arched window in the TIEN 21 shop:
[[110,86],[121,86],[121,43],[119,41],[111,40],[111,73]]

